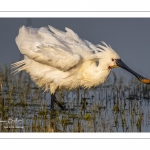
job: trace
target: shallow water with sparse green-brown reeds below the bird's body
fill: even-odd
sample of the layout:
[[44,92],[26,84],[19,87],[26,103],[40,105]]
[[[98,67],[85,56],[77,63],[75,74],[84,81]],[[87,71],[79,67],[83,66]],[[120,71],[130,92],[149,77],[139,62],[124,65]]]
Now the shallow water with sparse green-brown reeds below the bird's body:
[[[115,76],[114,76],[115,77]],[[115,82],[114,82],[115,81]],[[132,79],[108,79],[90,90],[59,91],[67,110],[50,110],[50,94],[27,74],[0,70],[1,132],[149,132],[150,86]],[[2,121],[22,118],[22,128],[4,128]]]

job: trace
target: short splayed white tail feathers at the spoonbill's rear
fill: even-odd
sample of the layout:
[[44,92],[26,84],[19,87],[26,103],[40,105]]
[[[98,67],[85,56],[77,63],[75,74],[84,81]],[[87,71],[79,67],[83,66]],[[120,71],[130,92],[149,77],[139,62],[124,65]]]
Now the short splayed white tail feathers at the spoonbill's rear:
[[12,74],[15,75],[18,72],[20,72],[22,70],[25,70],[26,67],[28,66],[28,64],[26,63],[25,60],[21,60],[21,61],[18,61],[16,63],[11,64],[11,66],[12,66],[12,69],[13,69]]

